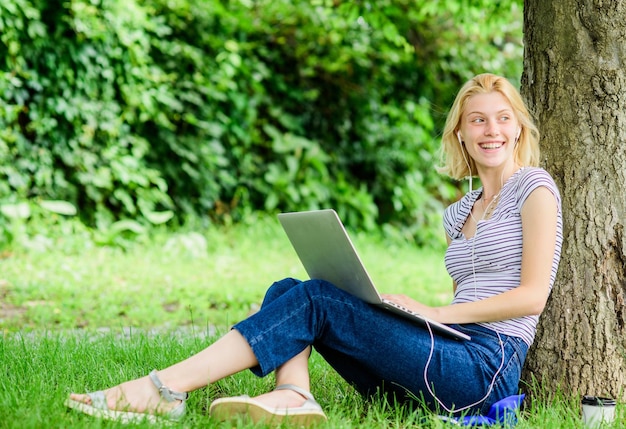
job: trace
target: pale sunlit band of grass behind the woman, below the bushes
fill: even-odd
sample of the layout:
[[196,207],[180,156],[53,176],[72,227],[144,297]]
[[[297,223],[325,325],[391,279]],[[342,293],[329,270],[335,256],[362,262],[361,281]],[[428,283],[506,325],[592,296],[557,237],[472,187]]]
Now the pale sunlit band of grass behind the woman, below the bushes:
[[[381,289],[450,299],[441,252],[354,239]],[[228,325],[254,311],[273,281],[306,278],[276,220],[160,234],[126,249],[75,241],[0,260],[0,329]]]

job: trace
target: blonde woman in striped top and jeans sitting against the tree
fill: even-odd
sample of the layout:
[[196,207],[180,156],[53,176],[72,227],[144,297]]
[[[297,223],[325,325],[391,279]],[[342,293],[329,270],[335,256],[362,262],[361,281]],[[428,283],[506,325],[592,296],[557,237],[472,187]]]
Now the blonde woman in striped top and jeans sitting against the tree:
[[[198,354],[105,391],[72,394],[67,405],[105,418],[180,419],[186,392],[251,369],[275,372],[278,387],[255,398],[218,399],[214,418],[323,421],[310,393],[312,348],[365,396],[383,392],[458,415],[484,414],[516,394],[556,276],[562,224],[557,187],[536,167],[538,131],[506,79],[482,74],[462,87],[445,125],[442,160],[443,172],[470,178],[470,191],[444,214],[454,299],[430,307],[404,295],[386,298],[471,341],[434,336],[324,281],[284,279],[257,314]],[[472,176],[479,189],[471,189]]]

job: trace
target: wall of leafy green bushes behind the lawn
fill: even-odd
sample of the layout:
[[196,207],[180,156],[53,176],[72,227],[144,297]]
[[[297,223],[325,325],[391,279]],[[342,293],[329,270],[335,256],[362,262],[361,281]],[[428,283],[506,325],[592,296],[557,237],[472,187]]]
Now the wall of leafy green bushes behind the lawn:
[[3,1],[0,203],[67,201],[103,242],[334,207],[437,243],[445,112],[475,73],[519,77],[521,18],[520,0]]

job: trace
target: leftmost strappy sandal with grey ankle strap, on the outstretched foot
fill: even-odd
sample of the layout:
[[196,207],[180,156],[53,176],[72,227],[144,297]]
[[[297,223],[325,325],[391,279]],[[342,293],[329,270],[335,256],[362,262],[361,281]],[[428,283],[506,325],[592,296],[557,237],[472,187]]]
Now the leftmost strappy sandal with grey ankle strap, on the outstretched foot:
[[174,422],[180,421],[185,416],[185,401],[189,395],[186,392],[175,392],[169,387],[164,386],[159,377],[156,375],[156,370],[150,372],[150,380],[159,390],[161,398],[166,402],[182,402],[170,411],[159,415],[135,413],[131,411],[117,411],[109,408],[104,391],[99,390],[97,392],[87,393],[87,395],[91,398],[91,404],[85,404],[84,402],[68,398],[65,401],[65,406],[82,413],[89,414],[90,416],[107,420],[115,420],[121,423],[137,423],[146,421],[150,423],[163,423],[168,420]]

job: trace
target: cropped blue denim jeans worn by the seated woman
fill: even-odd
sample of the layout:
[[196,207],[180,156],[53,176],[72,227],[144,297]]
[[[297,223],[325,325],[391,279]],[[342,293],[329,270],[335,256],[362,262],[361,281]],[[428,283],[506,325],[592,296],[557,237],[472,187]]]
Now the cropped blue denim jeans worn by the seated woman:
[[501,345],[494,331],[476,324],[454,327],[472,340],[432,337],[328,282],[288,278],[274,283],[261,310],[233,329],[250,344],[259,362],[252,371],[259,376],[312,345],[366,397],[383,393],[439,413],[471,405],[465,413],[486,414],[494,402],[518,393],[528,347],[502,334]]

